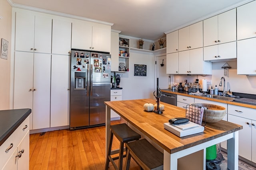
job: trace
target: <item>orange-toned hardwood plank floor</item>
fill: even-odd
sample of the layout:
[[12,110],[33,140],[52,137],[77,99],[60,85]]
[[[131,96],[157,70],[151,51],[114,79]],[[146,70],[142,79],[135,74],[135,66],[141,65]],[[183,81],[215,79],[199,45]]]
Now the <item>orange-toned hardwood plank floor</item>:
[[[111,124],[124,122],[121,119]],[[103,170],[106,161],[105,133],[105,126],[101,126],[31,134],[30,170]],[[119,145],[114,138],[112,149],[118,149]],[[125,158],[123,167],[124,164]],[[109,170],[114,170],[111,162]],[[130,170],[140,170],[140,167],[132,160]]]

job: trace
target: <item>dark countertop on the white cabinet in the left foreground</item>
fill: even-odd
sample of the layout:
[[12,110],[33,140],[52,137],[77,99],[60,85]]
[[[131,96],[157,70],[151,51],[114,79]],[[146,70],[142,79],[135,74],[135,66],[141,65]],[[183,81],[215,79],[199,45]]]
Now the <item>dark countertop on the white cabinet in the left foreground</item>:
[[0,146],[30,113],[31,109],[0,110]]

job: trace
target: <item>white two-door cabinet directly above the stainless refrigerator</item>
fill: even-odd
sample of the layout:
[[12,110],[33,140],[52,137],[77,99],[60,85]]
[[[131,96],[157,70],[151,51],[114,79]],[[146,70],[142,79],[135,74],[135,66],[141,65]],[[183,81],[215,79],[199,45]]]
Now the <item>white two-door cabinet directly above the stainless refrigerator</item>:
[[72,48],[110,52],[110,44],[109,25],[87,21],[72,22]]

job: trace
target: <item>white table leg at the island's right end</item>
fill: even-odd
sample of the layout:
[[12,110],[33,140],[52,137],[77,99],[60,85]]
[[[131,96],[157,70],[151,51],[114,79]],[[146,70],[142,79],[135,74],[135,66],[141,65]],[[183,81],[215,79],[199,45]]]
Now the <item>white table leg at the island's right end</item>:
[[228,169],[238,170],[238,131],[233,133],[233,137],[228,139]]

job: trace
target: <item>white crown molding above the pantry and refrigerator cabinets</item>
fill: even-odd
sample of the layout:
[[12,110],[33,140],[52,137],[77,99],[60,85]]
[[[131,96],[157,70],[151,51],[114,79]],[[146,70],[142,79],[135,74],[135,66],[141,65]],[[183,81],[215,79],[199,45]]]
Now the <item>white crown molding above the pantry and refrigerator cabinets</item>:
[[14,4],[12,2],[12,0],[7,0],[7,1],[14,8],[20,8],[20,9],[30,10],[30,11],[35,11],[35,12],[42,12],[42,13],[45,13],[45,14],[51,14],[51,15],[62,16],[62,17],[67,17],[67,18],[73,18],[73,19],[77,19],[77,20],[84,20],[84,21],[100,23],[100,24],[109,25],[109,26],[113,26],[114,25],[114,23],[110,23],[110,22],[94,20],[94,19],[90,19],[90,18],[74,16],[74,15],[64,14],[64,13],[61,13],[61,12],[54,12],[54,11],[50,11],[50,10],[43,10],[43,9],[40,9],[40,8],[34,8],[34,7],[20,5],[20,4]]

